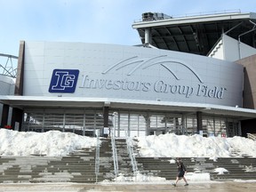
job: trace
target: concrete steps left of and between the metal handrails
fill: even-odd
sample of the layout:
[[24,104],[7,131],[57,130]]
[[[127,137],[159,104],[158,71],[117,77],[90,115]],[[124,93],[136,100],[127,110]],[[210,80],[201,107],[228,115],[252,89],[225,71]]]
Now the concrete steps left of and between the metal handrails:
[[[95,183],[115,179],[111,140],[101,140],[97,180],[95,151],[96,148],[82,148],[69,156],[0,156],[0,183]],[[132,175],[132,165],[125,140],[116,140],[116,151],[119,173],[128,178]]]

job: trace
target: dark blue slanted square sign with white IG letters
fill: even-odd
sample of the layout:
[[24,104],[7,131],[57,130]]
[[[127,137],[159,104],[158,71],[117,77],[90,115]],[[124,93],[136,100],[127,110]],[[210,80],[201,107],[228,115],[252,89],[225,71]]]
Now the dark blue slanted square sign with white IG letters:
[[49,92],[75,92],[78,75],[77,69],[54,69]]

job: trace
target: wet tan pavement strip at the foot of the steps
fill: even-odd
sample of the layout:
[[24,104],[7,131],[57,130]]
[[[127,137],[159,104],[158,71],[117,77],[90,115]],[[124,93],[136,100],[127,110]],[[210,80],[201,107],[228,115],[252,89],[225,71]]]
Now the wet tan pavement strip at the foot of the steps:
[[99,184],[77,184],[77,183],[1,183],[0,192],[19,191],[51,191],[51,192],[96,192],[96,191],[112,191],[112,192],[130,192],[130,191],[147,191],[147,192],[161,192],[161,191],[195,191],[195,192],[247,192],[255,191],[256,180],[236,182],[209,182],[209,183],[189,183],[184,186],[184,183],[178,183],[177,187],[173,187],[172,183],[154,184],[154,183],[99,183]]

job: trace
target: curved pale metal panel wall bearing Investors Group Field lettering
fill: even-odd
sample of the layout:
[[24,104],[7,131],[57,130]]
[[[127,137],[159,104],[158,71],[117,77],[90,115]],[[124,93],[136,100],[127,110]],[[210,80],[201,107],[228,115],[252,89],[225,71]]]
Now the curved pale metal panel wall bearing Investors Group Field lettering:
[[[79,70],[75,92],[49,92],[54,69]],[[69,85],[67,82],[61,87]],[[243,67],[226,60],[113,44],[26,42],[25,45],[26,96],[241,106],[242,92]]]

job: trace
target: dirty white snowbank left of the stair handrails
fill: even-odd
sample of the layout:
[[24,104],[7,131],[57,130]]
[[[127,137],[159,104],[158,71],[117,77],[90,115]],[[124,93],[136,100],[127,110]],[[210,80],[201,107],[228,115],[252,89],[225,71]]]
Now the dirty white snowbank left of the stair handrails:
[[16,132],[0,129],[0,156],[66,156],[76,149],[96,144],[95,138],[71,132]]

